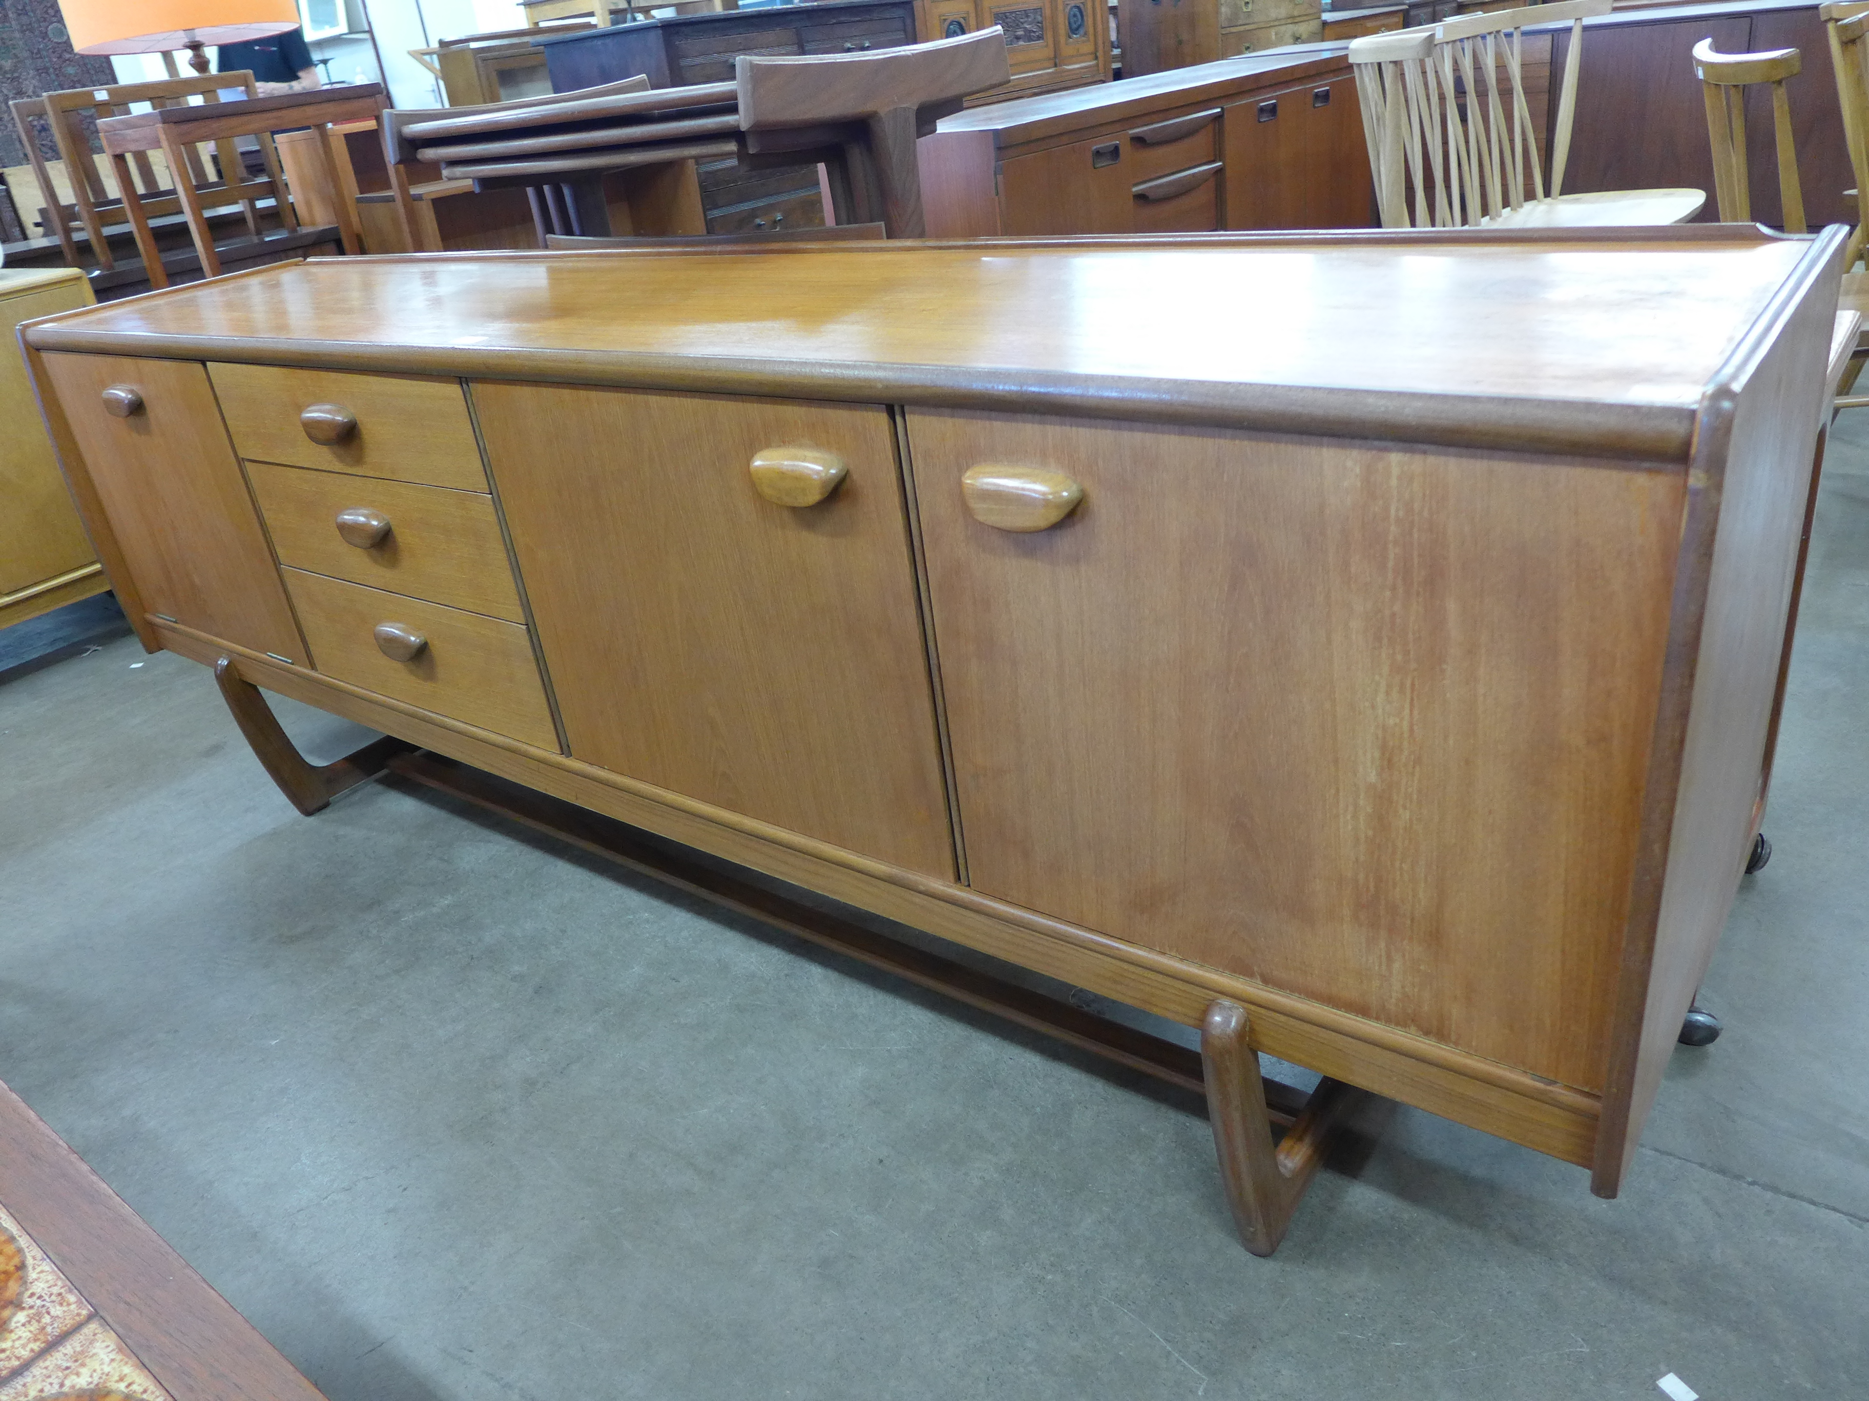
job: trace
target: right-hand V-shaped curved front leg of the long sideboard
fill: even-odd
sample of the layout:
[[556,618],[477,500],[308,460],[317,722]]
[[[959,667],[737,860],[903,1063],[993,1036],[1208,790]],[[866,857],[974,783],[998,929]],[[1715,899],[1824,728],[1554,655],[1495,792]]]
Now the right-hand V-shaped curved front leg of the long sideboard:
[[1323,1162],[1333,1130],[1361,1091],[1336,1080],[1320,1082],[1275,1147],[1265,1106],[1267,1082],[1260,1076],[1260,1055],[1247,1031],[1245,1007],[1224,998],[1209,1003],[1200,1029],[1200,1059],[1226,1205],[1234,1209],[1247,1250],[1271,1255]]

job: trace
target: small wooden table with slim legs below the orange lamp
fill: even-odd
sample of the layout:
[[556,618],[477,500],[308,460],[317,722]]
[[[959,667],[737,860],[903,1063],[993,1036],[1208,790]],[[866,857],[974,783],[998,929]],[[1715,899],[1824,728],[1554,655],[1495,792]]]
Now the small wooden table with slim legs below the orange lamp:
[[[312,168],[318,174],[323,202],[333,209],[338,237],[344,252],[363,252],[363,237],[357,232],[357,207],[342,198],[342,181],[331,157],[329,129],[333,123],[376,120],[376,114],[389,106],[389,99],[379,82],[364,82],[350,88],[318,88],[303,93],[278,93],[275,97],[250,97],[241,103],[211,103],[202,106],[164,106],[153,112],[105,118],[97,123],[105,153],[118,161],[118,181],[123,189],[123,207],[129,213],[131,228],[136,234],[136,248],[150,269],[151,286],[166,286],[163,260],[155,252],[155,237],[150,234],[150,220],[142,213],[135,181],[125,179],[123,157],[135,151],[163,151],[168,168],[178,172],[176,194],[181,196],[181,211],[194,235],[194,250],[202,260],[204,276],[221,276],[221,260],[215,256],[215,239],[207,228],[207,211],[194,185],[185,179],[187,163],[183,149],[194,142],[215,140],[219,136],[262,136],[293,127],[320,127],[325,140],[312,142]],[[273,153],[271,142],[262,142],[267,170],[278,191],[278,219],[288,230],[297,230],[299,219],[286,194],[284,176]],[[398,172],[391,172],[396,189],[406,198],[407,185]],[[413,247],[413,241],[411,241]]]

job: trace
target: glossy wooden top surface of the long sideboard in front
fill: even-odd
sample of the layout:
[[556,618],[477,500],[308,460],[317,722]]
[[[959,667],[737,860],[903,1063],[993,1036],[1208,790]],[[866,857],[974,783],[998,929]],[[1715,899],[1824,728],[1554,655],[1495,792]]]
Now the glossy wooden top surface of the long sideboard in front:
[[28,334],[1678,461],[1734,346],[1824,262],[1809,239],[1733,226],[794,247],[314,260]]

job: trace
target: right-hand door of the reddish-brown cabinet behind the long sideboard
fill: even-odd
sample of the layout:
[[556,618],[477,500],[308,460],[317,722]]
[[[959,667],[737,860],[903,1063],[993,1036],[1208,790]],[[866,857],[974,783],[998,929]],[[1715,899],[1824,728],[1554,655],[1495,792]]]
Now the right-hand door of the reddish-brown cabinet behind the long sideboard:
[[1355,78],[1250,97],[1220,121],[1224,228],[1376,224]]

